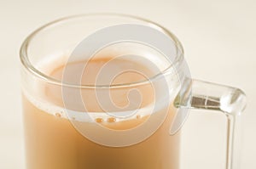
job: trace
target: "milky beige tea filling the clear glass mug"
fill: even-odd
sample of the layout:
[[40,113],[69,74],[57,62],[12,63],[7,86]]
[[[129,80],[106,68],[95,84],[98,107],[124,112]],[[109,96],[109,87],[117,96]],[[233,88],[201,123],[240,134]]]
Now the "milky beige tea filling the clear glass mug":
[[[108,57],[47,66],[49,76],[70,83],[77,83],[79,76],[81,84],[90,85],[144,81],[154,74],[147,65],[125,59],[111,61]],[[82,72],[81,67],[84,67]],[[68,71],[63,74],[64,69]],[[175,110],[169,103],[149,112],[148,107],[159,99],[155,96],[158,90],[152,85],[116,88],[108,90],[107,96],[104,91],[96,93],[94,89],[84,88],[80,90],[83,105],[73,96],[77,89],[66,89],[66,100],[63,100],[60,86],[43,82],[35,87],[40,90],[40,96],[29,91],[23,94],[27,169],[179,168],[179,133],[169,134]],[[106,101],[109,96],[112,104]],[[33,98],[41,98],[47,104],[42,100],[37,103]],[[73,110],[74,116],[46,105]],[[118,113],[124,111],[132,113],[122,118]],[[113,112],[117,114],[111,115]],[[90,121],[79,119],[84,114],[93,114]]]

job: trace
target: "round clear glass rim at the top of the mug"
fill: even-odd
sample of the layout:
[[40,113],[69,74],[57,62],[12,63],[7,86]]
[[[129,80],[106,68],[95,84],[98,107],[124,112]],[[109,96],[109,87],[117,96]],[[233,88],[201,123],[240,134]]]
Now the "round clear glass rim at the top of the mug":
[[[133,20],[139,20],[149,23],[150,25],[156,26],[156,28],[159,29],[159,31],[162,31],[165,33],[168,37],[171,37],[172,40],[175,42],[175,45],[180,50],[180,54],[177,54],[175,56],[175,59],[173,60],[172,64],[170,64],[165,70],[161,71],[160,73],[157,73],[154,76],[148,77],[148,79],[138,82],[125,82],[125,83],[118,83],[118,84],[111,84],[111,85],[90,85],[90,84],[74,84],[74,83],[67,83],[62,82],[61,80],[55,79],[51,76],[46,75],[42,71],[35,68],[35,66],[32,65],[32,62],[29,59],[29,55],[27,54],[27,48],[29,47],[33,37],[36,37],[38,33],[41,31],[44,31],[48,29],[51,26],[61,24],[62,22],[66,22],[68,20],[78,19],[78,18],[84,18],[84,17],[90,17],[90,16],[116,16],[116,17],[122,17],[127,19],[133,19]],[[33,76],[37,76],[38,78],[49,82],[54,85],[59,85],[63,87],[79,87],[79,88],[116,88],[116,87],[132,87],[132,86],[140,86],[143,84],[146,84],[148,82],[154,82],[156,79],[158,79],[160,76],[166,76],[172,71],[172,68],[175,66],[177,69],[182,65],[183,62],[183,46],[181,42],[177,39],[177,37],[171,32],[168,31],[164,26],[159,25],[158,23],[155,23],[154,21],[144,19],[135,15],[131,14],[114,14],[114,13],[93,13],[93,14],[76,14],[76,15],[70,15],[67,17],[62,17],[58,20],[53,20],[45,25],[42,25],[35,31],[32,31],[32,33],[26,37],[24,42],[22,42],[20,47],[20,62],[21,64],[28,70],[30,73],[32,73]]]

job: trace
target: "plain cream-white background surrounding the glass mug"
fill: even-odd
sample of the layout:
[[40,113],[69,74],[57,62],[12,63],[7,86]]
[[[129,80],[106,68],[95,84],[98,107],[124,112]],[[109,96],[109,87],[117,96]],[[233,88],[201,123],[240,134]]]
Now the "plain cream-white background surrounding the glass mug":
[[[253,0],[0,1],[0,168],[23,169],[19,48],[40,25],[70,14],[135,14],[183,43],[192,76],[247,93],[241,169],[256,168],[256,3]],[[224,169],[224,115],[193,110],[183,127],[183,169]]]

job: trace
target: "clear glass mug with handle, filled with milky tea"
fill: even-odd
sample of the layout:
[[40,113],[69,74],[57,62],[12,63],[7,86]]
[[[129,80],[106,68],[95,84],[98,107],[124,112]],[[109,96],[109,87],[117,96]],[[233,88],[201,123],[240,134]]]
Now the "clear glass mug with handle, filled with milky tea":
[[[160,38],[168,54],[154,48],[154,32],[172,43]],[[154,22],[124,14],[56,20],[26,38],[20,60],[27,169],[178,169],[189,108],[226,115],[226,169],[239,167],[244,93],[191,80],[181,43]]]

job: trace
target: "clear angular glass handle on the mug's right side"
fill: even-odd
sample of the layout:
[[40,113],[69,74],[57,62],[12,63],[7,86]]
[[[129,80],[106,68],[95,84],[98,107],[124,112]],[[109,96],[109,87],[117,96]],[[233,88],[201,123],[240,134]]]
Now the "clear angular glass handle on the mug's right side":
[[227,151],[225,169],[240,168],[241,112],[246,107],[246,95],[240,89],[212,82],[186,79],[174,101],[177,108],[218,110],[227,118]]

